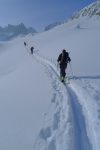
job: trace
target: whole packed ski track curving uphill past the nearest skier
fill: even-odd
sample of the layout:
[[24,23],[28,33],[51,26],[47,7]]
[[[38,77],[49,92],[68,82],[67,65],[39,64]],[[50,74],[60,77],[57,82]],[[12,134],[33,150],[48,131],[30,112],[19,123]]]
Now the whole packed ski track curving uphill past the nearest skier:
[[[56,80],[59,79],[59,73],[57,72],[56,67],[49,60],[39,56],[38,54],[35,54],[34,56],[37,61],[53,72],[56,76]],[[49,71],[49,73],[51,71]],[[61,83],[61,85],[63,85],[63,83]],[[79,104],[78,96],[68,85],[63,85],[63,89],[66,90],[66,99],[69,99],[72,112],[72,116],[70,117],[72,117],[73,134],[70,135],[72,136],[70,138],[72,138],[73,148],[74,150],[92,150],[92,144],[87,134],[86,120],[83,115],[82,106]],[[62,90],[60,91],[61,93],[63,93]]]

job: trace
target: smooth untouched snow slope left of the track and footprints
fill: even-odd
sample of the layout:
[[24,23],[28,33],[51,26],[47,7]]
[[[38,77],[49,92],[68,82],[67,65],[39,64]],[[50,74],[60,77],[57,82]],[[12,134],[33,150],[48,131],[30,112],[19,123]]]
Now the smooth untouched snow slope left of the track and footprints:
[[23,41],[0,44],[0,49],[0,149],[33,149],[51,99],[50,81]]

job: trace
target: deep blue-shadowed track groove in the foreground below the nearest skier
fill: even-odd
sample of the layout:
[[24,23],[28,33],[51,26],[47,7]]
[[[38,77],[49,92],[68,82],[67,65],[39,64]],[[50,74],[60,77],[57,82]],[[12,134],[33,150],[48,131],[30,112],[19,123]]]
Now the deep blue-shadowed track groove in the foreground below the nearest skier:
[[66,86],[66,89],[69,94],[69,100],[73,112],[75,147],[77,150],[92,150],[92,145],[87,135],[82,106],[78,103],[78,97],[76,93],[68,86]]

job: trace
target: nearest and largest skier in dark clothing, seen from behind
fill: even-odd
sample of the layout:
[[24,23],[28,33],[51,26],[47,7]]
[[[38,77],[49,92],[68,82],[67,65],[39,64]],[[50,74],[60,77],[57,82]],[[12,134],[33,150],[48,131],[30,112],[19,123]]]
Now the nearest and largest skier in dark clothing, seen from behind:
[[67,68],[67,64],[68,62],[71,61],[70,57],[69,57],[69,53],[66,52],[65,49],[62,50],[62,53],[59,55],[58,59],[57,59],[59,66],[60,66],[60,78],[61,81],[64,82],[65,81],[65,76],[66,76],[66,68]]

